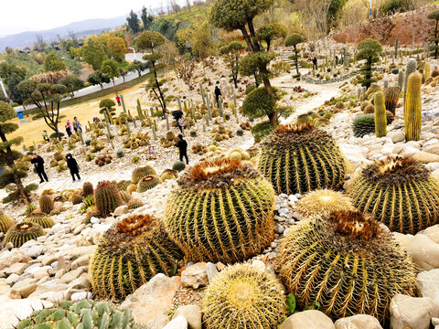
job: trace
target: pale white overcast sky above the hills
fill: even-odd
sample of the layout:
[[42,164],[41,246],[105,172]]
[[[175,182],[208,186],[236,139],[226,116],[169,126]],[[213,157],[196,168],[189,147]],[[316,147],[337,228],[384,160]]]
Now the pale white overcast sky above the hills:
[[[183,1],[178,1],[183,3]],[[0,37],[62,27],[90,18],[111,18],[131,9],[166,7],[167,0],[1,0]]]

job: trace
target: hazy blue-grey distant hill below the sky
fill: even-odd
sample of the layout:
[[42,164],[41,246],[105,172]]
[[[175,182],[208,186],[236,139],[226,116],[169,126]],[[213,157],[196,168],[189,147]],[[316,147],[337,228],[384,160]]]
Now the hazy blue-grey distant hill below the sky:
[[10,35],[6,37],[0,37],[0,51],[5,50],[6,47],[10,48],[24,48],[34,45],[37,35],[42,36],[46,42],[60,37],[67,37],[69,31],[73,31],[76,36],[91,36],[113,27],[120,27],[126,23],[126,16],[118,16],[113,18],[96,18],[87,19],[81,22],[70,23],[64,27],[56,27],[44,31],[31,31],[22,32],[16,35]]

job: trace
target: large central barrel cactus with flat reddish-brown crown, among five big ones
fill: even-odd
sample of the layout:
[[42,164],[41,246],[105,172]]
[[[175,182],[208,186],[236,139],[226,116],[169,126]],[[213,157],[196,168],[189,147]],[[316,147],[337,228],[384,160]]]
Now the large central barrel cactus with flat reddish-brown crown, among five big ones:
[[230,263],[273,240],[273,187],[251,164],[218,159],[195,164],[166,204],[166,230],[188,260]]

